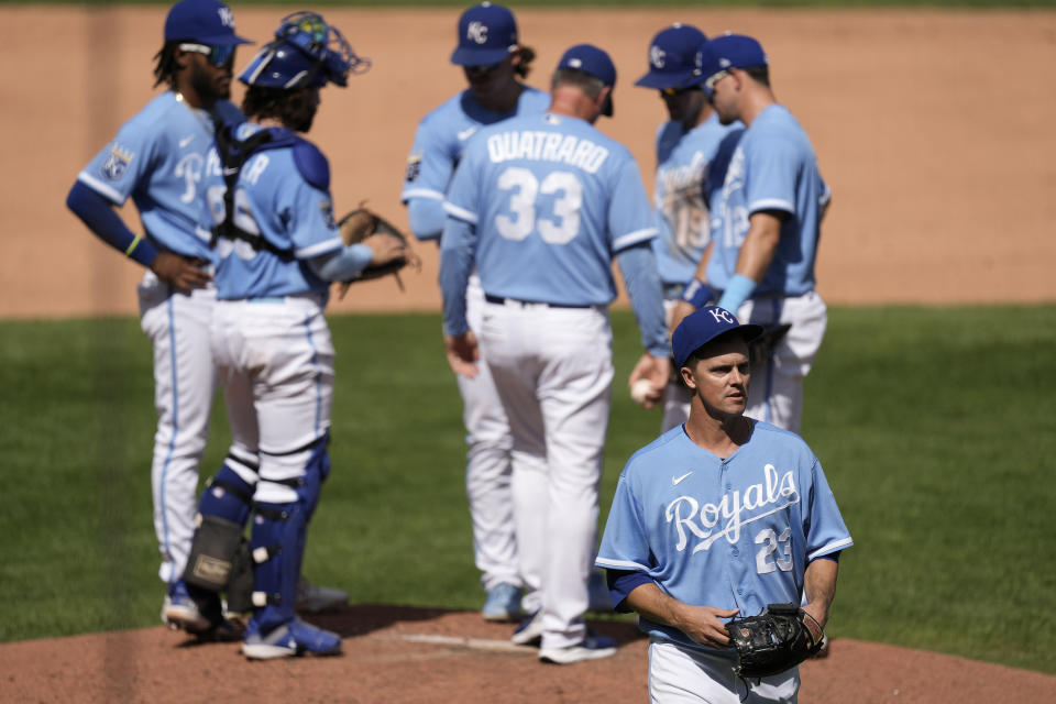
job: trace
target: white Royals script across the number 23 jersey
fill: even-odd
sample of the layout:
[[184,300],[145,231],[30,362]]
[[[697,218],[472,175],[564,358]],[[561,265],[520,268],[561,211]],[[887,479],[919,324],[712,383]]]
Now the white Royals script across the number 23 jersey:
[[744,493],[735,490],[724,494],[718,504],[703,505],[692,496],[679,496],[668,505],[664,518],[678,531],[675,549],[682,552],[692,541],[692,552],[696,553],[711,549],[721,538],[735,544],[743,527],[799,503],[792,471],[779,476],[777,468],[768,464],[762,481],[749,485]]

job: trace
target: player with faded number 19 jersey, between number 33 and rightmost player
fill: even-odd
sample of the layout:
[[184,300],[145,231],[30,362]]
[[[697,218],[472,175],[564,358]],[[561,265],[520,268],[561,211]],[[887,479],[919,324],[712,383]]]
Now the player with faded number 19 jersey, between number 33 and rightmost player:
[[[744,125],[721,124],[704,95],[703,55],[707,40],[690,24],[675,23],[652,37],[649,70],[636,86],[659,91],[669,120],[657,130],[657,176],[653,207],[657,239],[652,246],[670,316],[683,295],[700,295],[691,286],[696,266],[711,244],[708,202],[728,163]],[[707,297],[707,294],[704,294]],[[669,320],[670,323],[670,320]],[[651,389],[647,408],[663,405],[662,429],[683,422],[690,413],[690,393],[676,378]]]

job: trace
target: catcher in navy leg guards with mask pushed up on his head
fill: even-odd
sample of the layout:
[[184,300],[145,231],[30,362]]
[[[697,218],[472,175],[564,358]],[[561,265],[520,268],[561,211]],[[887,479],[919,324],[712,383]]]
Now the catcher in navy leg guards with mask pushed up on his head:
[[[250,659],[332,654],[341,638],[295,613],[308,524],[330,473],[334,350],[323,316],[329,283],[402,256],[392,235],[345,246],[333,219],[330,167],[301,136],[320,90],[370,66],[319,14],[283,19],[239,76],[248,121],[218,132],[206,185],[217,252],[213,353],[232,436],[258,468],[229,458],[202,494],[185,579],[223,590],[253,524]],[[232,570],[237,573],[237,570]],[[217,579],[219,575],[219,579]],[[230,590],[229,590],[230,596]]]

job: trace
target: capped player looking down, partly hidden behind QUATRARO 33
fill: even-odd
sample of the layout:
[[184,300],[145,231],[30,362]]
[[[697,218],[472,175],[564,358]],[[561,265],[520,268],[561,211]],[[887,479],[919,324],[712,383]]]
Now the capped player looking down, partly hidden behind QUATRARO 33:
[[[415,237],[440,244],[447,215],[443,198],[466,144],[476,132],[517,114],[541,113],[550,96],[522,81],[535,52],[519,43],[514,14],[501,4],[483,2],[459,18],[451,63],[461,66],[468,88],[427,114],[415,133],[407,158],[402,200]],[[480,329],[484,294],[470,278],[469,323]],[[517,566],[510,493],[509,422],[486,366],[466,370],[448,355],[462,396],[469,444],[465,488],[473,526],[474,562],[487,593],[486,620],[520,615],[522,581]],[[525,608],[538,608],[538,595],[525,596]]]

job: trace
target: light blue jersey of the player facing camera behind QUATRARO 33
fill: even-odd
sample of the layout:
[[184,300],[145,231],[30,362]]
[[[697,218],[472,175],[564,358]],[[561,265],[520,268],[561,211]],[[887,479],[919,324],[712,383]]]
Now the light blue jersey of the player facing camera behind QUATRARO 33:
[[543,112],[550,107],[550,94],[525,87],[517,106],[509,112],[484,108],[463,90],[427,114],[415,133],[415,143],[407,157],[404,189],[400,200],[411,198],[443,200],[465,146],[484,125],[494,124],[518,114]]

